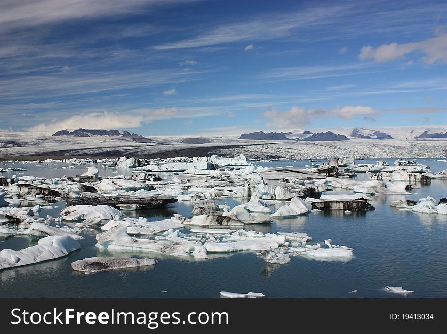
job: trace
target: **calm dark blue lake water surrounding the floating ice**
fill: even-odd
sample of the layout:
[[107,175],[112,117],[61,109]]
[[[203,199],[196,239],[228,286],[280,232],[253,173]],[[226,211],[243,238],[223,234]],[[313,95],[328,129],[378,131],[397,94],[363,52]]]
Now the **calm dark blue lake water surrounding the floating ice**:
[[[390,165],[395,159],[383,159]],[[356,163],[374,163],[374,160]],[[447,162],[418,159],[418,163],[439,172]],[[307,160],[256,162],[265,167],[294,166],[304,168]],[[0,167],[7,168],[11,163]],[[27,171],[13,173],[41,177],[79,175],[88,166],[62,169],[68,164],[21,164],[13,167]],[[131,170],[100,169],[102,176],[131,173]],[[115,172],[115,173],[114,173]],[[367,180],[372,174],[358,173],[357,180]],[[406,298],[447,297],[447,215],[417,214],[391,208],[395,199],[432,196],[438,201],[447,197],[447,180],[432,180],[430,185],[410,190],[411,195],[373,196],[374,211],[310,212],[296,219],[274,220],[271,224],[248,225],[247,230],[262,232],[305,232],[314,241],[333,239],[334,244],[354,249],[348,262],[323,262],[304,257],[292,257],[286,265],[268,264],[254,252],[209,254],[207,260],[161,256],[154,253],[110,252],[94,247],[95,233],[83,235],[81,249],[66,257],[35,265],[0,271],[0,297],[127,297],[127,298],[218,298],[219,291],[262,292],[270,298],[395,298],[401,295],[386,292],[385,286],[402,286],[414,290]],[[333,191],[329,194],[352,191]],[[240,204],[232,198],[218,200],[231,207]],[[42,210],[41,216],[57,217],[58,209]],[[166,208],[127,212],[128,216],[145,216],[150,220],[170,218],[175,212],[191,216],[188,202],[177,202]],[[0,249],[22,249],[34,245],[37,238],[0,238]],[[159,260],[155,267],[133,270],[79,274],[70,263],[92,256],[146,256]],[[348,293],[358,290],[357,294]],[[166,292],[162,292],[166,291]]]

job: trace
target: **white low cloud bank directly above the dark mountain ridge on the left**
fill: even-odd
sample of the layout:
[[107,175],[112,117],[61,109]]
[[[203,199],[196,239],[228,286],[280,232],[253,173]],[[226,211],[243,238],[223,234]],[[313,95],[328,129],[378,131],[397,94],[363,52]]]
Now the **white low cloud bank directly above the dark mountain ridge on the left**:
[[54,120],[49,123],[41,123],[25,130],[34,132],[56,132],[63,129],[132,129],[139,128],[143,117],[131,114],[112,112],[93,112],[89,114],[75,115],[63,120]]

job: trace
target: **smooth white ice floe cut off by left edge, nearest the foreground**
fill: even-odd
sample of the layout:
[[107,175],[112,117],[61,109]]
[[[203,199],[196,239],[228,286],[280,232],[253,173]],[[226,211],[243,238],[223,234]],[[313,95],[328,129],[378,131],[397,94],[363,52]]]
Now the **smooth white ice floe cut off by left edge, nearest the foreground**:
[[1,251],[0,270],[57,259],[80,248],[79,242],[68,235],[47,236],[40,239],[35,246],[19,251],[11,249]]

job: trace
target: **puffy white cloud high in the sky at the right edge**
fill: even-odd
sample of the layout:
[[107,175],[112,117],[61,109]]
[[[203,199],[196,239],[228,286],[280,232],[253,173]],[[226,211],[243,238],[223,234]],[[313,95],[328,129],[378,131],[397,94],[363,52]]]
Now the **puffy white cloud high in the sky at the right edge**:
[[366,45],[360,50],[359,58],[360,60],[373,59],[375,62],[385,63],[416,51],[424,54],[424,57],[421,58],[423,63],[447,62],[447,34],[444,33],[420,42],[383,44],[375,49]]

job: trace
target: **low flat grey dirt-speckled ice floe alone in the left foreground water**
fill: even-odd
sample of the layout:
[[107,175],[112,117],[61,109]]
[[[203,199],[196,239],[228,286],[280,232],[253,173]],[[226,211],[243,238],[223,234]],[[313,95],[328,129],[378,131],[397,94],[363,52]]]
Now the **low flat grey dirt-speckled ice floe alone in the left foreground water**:
[[94,272],[143,267],[157,264],[153,258],[115,258],[115,257],[91,257],[72,262],[71,266],[75,271],[82,271],[85,274]]

